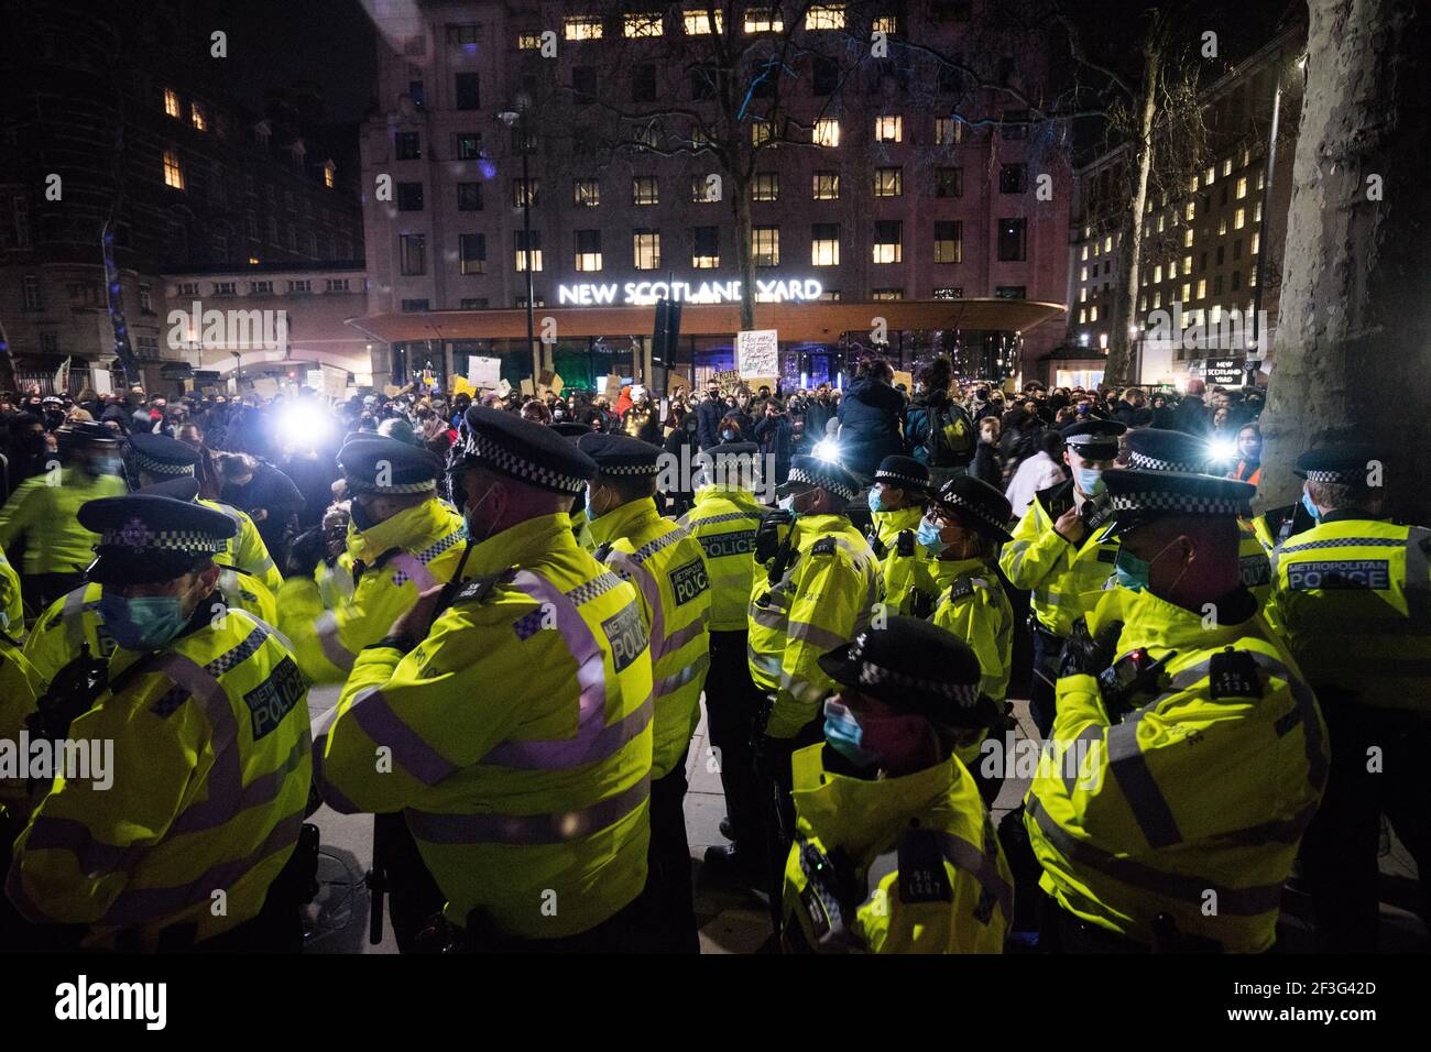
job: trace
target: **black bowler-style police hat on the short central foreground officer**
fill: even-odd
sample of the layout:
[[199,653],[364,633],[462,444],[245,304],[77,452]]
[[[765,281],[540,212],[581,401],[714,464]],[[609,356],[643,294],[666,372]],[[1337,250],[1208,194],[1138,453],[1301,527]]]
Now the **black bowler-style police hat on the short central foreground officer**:
[[866,628],[819,661],[836,683],[902,713],[950,727],[987,727],[997,714],[997,706],[979,693],[975,651],[917,617],[890,617],[883,628]]

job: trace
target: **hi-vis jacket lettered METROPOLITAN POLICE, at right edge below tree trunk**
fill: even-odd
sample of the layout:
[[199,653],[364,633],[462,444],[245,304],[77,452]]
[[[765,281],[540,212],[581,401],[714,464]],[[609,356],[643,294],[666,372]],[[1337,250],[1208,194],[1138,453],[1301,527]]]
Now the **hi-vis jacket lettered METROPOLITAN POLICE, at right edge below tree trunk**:
[[1307,681],[1431,717],[1431,530],[1331,511],[1272,552],[1268,620]]

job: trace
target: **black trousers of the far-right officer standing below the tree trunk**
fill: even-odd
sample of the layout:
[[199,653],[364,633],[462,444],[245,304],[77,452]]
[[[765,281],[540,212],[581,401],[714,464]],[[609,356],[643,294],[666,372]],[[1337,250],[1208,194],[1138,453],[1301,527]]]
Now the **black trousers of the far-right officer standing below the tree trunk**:
[[[1431,723],[1324,700],[1332,763],[1327,793],[1302,836],[1302,870],[1312,893],[1318,948],[1329,953],[1375,953],[1379,943],[1381,816],[1411,852],[1420,876],[1417,910],[1431,927],[1431,783],[1424,757]],[[1368,753],[1379,750],[1381,770]]]

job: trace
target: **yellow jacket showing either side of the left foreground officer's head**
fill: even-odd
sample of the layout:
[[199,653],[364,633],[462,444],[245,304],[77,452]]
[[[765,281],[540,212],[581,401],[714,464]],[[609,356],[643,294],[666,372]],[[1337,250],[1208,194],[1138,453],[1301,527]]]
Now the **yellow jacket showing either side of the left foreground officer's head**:
[[[223,560],[225,554],[215,555],[220,565],[225,565]],[[94,657],[107,658],[114,653],[114,638],[99,617],[103,591],[99,584],[82,584],[54,600],[34,623],[24,641],[24,656],[34,666],[36,691],[43,694],[54,674],[77,658],[86,643]],[[263,581],[228,567],[219,575],[218,594],[205,604],[210,617],[225,608],[243,610],[269,627],[278,621],[278,600]]]

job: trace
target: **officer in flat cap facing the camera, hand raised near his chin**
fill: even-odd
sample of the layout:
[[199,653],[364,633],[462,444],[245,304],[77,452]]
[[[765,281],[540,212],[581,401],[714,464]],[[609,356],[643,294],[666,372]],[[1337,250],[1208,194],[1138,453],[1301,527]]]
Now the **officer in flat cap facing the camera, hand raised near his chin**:
[[1063,640],[1113,571],[1118,542],[1098,540],[1089,518],[1103,492],[1103,475],[1118,457],[1118,437],[1128,428],[1088,419],[1063,431],[1063,462],[1073,477],[1040,490],[1003,545],[999,567],[1015,588],[1027,588],[1033,633],[1033,680],[1029,710],[1043,737],[1053,726],[1053,683]]

